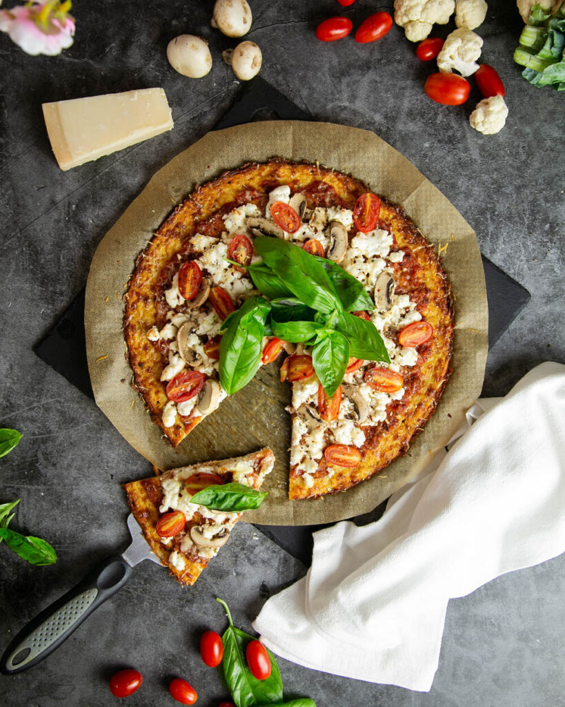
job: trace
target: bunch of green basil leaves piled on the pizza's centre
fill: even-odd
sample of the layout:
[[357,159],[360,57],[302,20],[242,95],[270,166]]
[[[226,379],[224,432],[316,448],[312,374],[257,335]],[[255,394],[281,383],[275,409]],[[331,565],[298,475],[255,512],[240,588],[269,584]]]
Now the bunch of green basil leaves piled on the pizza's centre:
[[391,363],[375,326],[347,311],[374,310],[373,300],[355,277],[332,261],[326,266],[320,257],[286,240],[257,236],[254,250],[263,258],[248,266],[256,288],[266,297],[286,291],[290,298],[283,295],[269,303],[251,297],[225,320],[220,329],[224,334],[220,383],[228,395],[254,378],[266,332],[312,347],[314,371],[329,397],[343,381],[350,354]]

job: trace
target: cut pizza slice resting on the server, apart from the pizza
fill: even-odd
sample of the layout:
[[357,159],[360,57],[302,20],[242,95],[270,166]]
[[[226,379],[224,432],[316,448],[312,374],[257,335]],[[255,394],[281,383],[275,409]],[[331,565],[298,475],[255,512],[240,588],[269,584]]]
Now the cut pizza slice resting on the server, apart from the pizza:
[[179,582],[196,582],[242,517],[242,513],[191,503],[192,496],[208,486],[233,481],[259,489],[274,462],[273,452],[264,448],[243,457],[192,464],[124,484],[131,512],[145,539]]

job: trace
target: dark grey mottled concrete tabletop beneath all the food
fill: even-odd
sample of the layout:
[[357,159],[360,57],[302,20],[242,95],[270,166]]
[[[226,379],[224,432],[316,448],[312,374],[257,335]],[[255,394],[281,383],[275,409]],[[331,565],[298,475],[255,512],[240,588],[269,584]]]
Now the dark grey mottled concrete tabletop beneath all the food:
[[[11,6],[9,0],[5,5]],[[52,542],[59,561],[35,568],[0,546],[0,649],[38,609],[70,588],[109,550],[125,547],[119,484],[150,474],[95,404],[42,363],[32,346],[85,283],[97,243],[151,175],[205,134],[237,95],[220,61],[237,42],[212,30],[212,1],[120,3],[76,0],[78,30],[60,57],[28,57],[0,35],[0,427],[25,435],[0,460],[0,502],[22,499],[13,527]],[[321,44],[314,28],[347,14],[355,25],[392,2],[251,0],[249,39],[263,49],[261,75],[314,119],[371,129],[407,156],[477,232],[484,255],[533,295],[489,354],[486,395],[504,395],[541,361],[564,361],[564,96],[520,76],[513,49],[521,19],[511,0],[489,3],[482,61],[506,84],[503,132],[468,125],[479,100],[443,107],[422,92],[431,66],[394,27],[375,45],[352,37]],[[450,25],[450,28],[452,26]],[[440,28],[445,35],[447,28]],[[167,42],[181,33],[210,40],[214,66],[200,81],[175,74]],[[436,34],[434,32],[434,34]],[[472,81],[472,80],[471,80]],[[62,173],[52,157],[41,103],[132,88],[165,88],[172,132]],[[198,704],[227,694],[198,657],[203,629],[223,629],[215,596],[249,630],[265,597],[305,568],[261,532],[241,525],[194,588],[153,563],[40,666],[0,677],[0,703],[13,707],[112,705],[107,679],[131,666],[145,676],[128,704],[166,705],[170,677],[194,684]],[[305,670],[280,661],[285,693],[319,707],[558,707],[565,705],[565,559],[506,575],[451,602],[432,691]]]

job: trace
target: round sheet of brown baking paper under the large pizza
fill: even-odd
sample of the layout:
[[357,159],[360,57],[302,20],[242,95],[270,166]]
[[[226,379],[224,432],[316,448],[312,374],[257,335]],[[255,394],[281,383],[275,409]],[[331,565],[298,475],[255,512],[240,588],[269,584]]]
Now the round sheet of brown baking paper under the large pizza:
[[[222,402],[176,448],[151,421],[131,387],[122,331],[123,296],[138,253],[174,204],[196,185],[249,161],[279,156],[318,161],[366,182],[376,194],[401,204],[439,250],[451,280],[456,310],[453,375],[435,414],[402,457],[349,491],[315,501],[289,501],[290,386],[278,363],[261,368],[243,390]],[[444,447],[480,394],[487,357],[487,296],[472,228],[424,176],[374,133],[328,123],[256,122],[212,132],[159,170],[97,248],[85,304],[88,368],[95,399],[117,430],[161,469],[224,459],[269,446],[275,452],[269,491],[246,520],[270,525],[310,525],[367,513],[413,479]],[[140,477],[147,468],[140,464]]]

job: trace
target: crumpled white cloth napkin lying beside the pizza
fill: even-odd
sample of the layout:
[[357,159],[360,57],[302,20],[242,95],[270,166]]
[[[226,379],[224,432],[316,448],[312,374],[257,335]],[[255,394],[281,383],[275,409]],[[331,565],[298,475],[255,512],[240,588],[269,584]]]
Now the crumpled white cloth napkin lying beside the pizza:
[[565,551],[565,366],[542,363],[477,401],[468,427],[380,520],[314,533],[307,576],[254,622],[270,650],[429,691],[448,600]]

